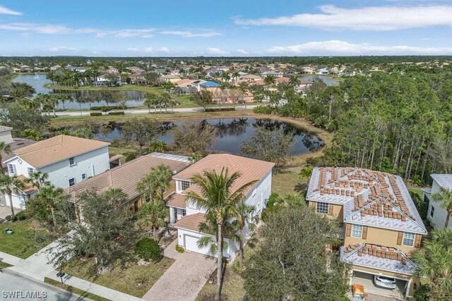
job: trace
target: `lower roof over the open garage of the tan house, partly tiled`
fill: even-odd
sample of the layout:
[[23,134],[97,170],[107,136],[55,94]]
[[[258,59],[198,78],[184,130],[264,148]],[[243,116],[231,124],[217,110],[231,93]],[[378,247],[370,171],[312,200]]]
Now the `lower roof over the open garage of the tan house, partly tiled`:
[[398,274],[412,275],[416,267],[404,252],[395,247],[368,243],[340,247],[340,259],[355,266],[365,266]]

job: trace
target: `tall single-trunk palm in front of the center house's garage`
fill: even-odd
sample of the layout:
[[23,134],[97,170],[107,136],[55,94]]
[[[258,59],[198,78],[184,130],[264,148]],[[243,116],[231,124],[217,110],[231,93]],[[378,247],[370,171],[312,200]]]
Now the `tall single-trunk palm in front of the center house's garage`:
[[[206,210],[206,220],[211,225],[216,223],[215,236],[217,238],[217,290],[215,300],[220,300],[221,275],[222,275],[222,229],[225,222],[231,218],[240,220],[241,216],[237,211],[237,205],[243,202],[244,192],[249,186],[256,183],[251,181],[237,188],[232,192],[232,186],[240,177],[240,173],[229,174],[228,168],[222,168],[221,173],[205,171],[203,175],[196,175],[191,178],[194,185],[198,185],[201,195],[191,191],[187,199],[194,202],[196,207]],[[214,227],[213,227],[214,228]]]

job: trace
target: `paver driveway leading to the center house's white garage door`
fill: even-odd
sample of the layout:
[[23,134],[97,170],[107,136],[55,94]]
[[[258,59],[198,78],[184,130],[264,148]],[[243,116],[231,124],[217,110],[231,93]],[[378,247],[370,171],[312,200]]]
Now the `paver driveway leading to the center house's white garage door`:
[[169,245],[163,254],[176,261],[169,266],[165,274],[153,285],[142,299],[154,300],[195,300],[206,284],[210,274],[216,268],[216,259],[198,253],[178,253],[175,250],[177,239]]

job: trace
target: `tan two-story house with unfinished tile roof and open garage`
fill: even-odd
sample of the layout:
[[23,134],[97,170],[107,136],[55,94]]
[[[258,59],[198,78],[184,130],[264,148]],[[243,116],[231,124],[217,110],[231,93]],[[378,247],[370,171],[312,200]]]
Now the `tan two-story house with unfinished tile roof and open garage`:
[[[405,299],[420,285],[412,252],[427,230],[400,176],[362,168],[314,168],[309,206],[343,226],[343,262],[351,264],[350,284],[379,295]],[[391,290],[379,281],[393,279]]]

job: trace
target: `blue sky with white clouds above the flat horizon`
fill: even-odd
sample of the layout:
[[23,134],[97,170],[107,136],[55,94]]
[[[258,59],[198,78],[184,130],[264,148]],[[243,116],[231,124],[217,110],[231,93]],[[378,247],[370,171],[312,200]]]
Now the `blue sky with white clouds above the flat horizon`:
[[452,55],[452,0],[0,0],[0,56]]

